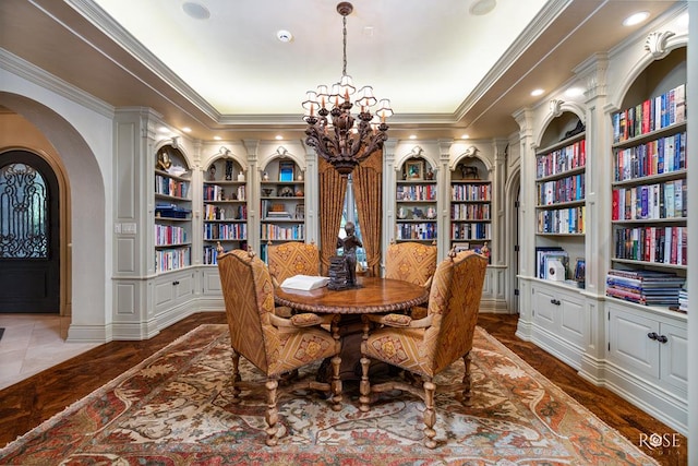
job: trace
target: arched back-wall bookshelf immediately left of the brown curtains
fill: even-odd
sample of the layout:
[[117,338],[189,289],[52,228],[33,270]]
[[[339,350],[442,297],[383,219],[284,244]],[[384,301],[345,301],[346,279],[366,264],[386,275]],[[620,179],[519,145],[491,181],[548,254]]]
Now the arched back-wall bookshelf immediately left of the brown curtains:
[[266,258],[269,242],[305,240],[305,181],[290,159],[274,159],[260,183],[260,243]]

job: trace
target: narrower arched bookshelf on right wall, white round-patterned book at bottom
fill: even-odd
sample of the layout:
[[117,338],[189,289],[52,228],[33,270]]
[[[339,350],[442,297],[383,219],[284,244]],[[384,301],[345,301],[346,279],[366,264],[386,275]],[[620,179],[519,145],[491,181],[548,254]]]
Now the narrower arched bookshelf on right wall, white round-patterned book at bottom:
[[551,120],[535,151],[538,278],[575,286],[577,279],[583,286],[587,155],[585,126],[576,113],[563,111]]

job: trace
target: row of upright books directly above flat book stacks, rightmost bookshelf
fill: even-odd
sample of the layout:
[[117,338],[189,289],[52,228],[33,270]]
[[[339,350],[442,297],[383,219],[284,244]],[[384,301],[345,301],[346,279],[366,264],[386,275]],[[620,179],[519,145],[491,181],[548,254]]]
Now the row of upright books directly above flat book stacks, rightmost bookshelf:
[[659,264],[688,264],[688,227],[615,229],[615,258]]

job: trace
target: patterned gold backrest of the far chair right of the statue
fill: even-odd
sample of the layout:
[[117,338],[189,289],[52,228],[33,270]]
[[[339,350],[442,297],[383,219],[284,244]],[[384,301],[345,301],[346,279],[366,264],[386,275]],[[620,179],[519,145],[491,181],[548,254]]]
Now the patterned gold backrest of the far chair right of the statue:
[[385,255],[385,278],[429,286],[436,271],[436,246],[421,242],[396,242]]

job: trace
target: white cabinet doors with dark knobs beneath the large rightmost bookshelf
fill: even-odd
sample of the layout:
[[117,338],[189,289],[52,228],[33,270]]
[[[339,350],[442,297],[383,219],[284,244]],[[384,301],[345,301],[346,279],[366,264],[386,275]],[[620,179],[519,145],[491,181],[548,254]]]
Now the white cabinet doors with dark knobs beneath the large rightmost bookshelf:
[[651,312],[609,304],[609,360],[677,395],[688,390],[685,325]]

